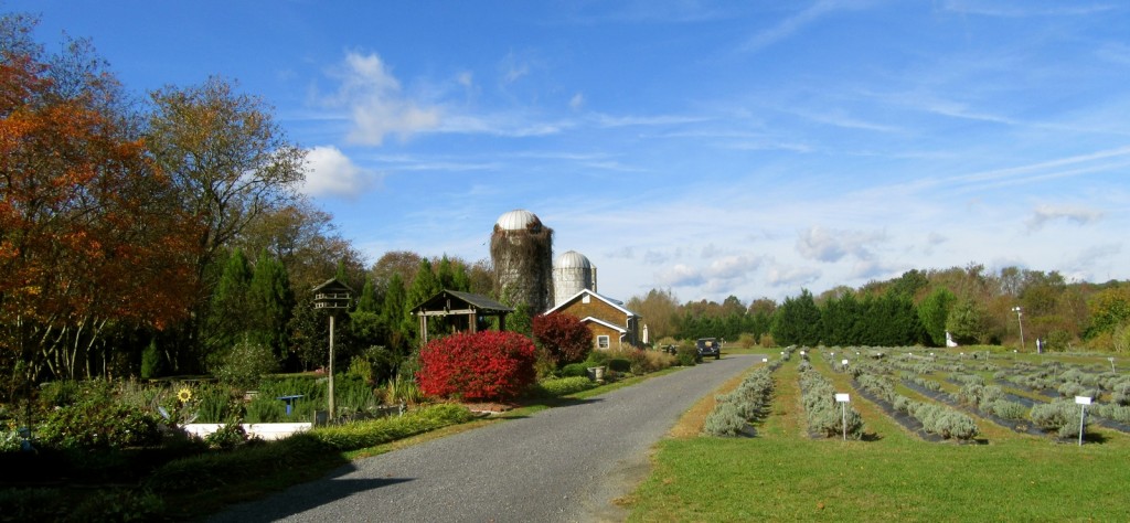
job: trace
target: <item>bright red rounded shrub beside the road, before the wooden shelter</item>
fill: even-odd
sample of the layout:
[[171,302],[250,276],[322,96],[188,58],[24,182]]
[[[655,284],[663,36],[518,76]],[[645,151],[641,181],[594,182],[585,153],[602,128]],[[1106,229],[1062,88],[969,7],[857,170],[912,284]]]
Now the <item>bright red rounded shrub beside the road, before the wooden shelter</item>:
[[416,377],[429,396],[505,400],[525,391],[537,377],[533,341],[516,332],[459,333],[420,349]]

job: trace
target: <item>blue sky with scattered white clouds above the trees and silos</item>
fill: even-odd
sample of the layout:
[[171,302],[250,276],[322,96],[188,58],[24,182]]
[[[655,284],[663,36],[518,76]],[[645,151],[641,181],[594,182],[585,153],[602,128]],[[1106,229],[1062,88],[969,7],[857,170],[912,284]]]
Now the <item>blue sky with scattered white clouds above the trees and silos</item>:
[[142,95],[217,75],[375,261],[528,209],[620,299],[983,263],[1130,278],[1115,1],[9,1]]

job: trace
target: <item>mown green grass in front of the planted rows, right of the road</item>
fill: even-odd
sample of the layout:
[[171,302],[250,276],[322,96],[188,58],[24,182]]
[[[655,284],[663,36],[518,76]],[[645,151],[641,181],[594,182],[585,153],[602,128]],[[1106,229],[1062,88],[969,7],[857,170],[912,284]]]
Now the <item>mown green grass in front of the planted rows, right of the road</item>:
[[814,441],[796,367],[774,373],[757,437],[661,442],[629,521],[1130,521],[1125,434],[1079,447],[979,420],[988,444],[928,443],[853,395],[871,441]]

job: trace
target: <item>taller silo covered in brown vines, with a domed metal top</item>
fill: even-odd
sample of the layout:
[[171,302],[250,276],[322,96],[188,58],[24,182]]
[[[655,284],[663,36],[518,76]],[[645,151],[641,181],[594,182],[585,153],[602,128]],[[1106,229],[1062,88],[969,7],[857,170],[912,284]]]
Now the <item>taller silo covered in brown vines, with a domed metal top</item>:
[[531,316],[553,303],[554,229],[528,210],[498,217],[490,235],[495,291],[510,305],[525,304]]

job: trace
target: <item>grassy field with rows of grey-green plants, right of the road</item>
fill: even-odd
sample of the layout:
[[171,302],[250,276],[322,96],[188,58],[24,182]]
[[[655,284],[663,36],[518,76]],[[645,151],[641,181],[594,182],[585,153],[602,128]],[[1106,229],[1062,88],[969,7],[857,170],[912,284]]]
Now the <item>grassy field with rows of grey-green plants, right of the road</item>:
[[[1130,520],[1130,434],[1112,419],[1130,376],[1105,358],[800,350],[753,371],[772,391],[737,436],[659,445],[625,500],[633,521]],[[850,394],[849,441],[844,411],[810,390]],[[725,392],[720,406],[742,395]],[[1078,436],[1080,392],[1083,446],[1063,428]],[[1067,401],[1070,420],[1044,412]]]

